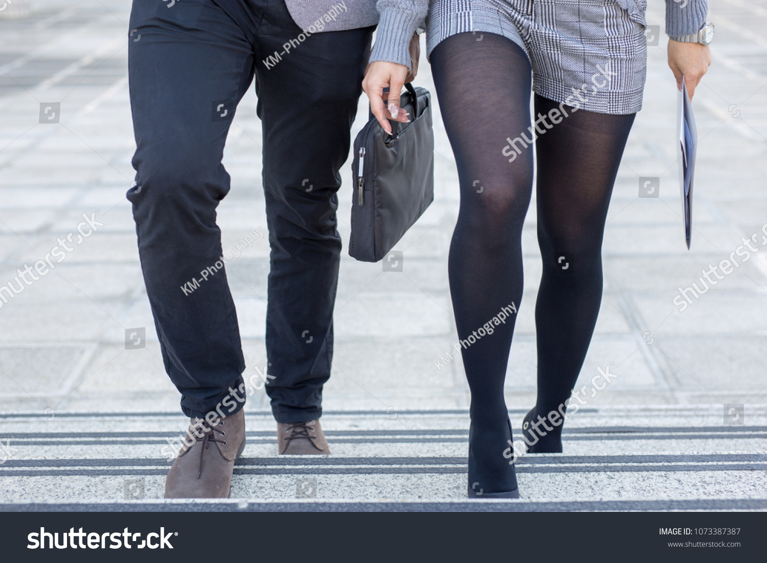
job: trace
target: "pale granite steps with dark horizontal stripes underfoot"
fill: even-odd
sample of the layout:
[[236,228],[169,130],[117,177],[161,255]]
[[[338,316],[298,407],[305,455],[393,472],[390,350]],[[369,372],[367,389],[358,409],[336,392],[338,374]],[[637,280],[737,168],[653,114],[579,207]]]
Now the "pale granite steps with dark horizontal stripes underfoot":
[[[748,414],[746,426],[724,425],[721,406],[583,410],[568,421],[565,453],[518,459],[522,499],[478,503],[466,499],[465,410],[325,413],[332,456],[278,456],[271,414],[249,412],[232,500],[206,506],[767,510],[767,409]],[[524,412],[510,416],[518,436]],[[0,464],[0,509],[199,505],[162,499],[170,462],[161,450],[186,430],[178,413],[58,413],[49,419],[40,413],[0,416],[0,461],[7,458]]]

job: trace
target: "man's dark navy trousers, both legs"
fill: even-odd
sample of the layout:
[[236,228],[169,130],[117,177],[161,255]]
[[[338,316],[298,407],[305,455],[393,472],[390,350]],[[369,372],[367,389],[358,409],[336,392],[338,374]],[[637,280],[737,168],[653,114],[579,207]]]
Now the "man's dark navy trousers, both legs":
[[[229,192],[226,134],[255,73],[272,248],[266,350],[275,379],[266,389],[278,422],[315,419],[333,354],[338,170],[373,28],[302,36],[281,60],[275,51],[301,35],[284,0],[134,0],[130,30],[137,185],[127,196],[182,410],[204,416],[243,383],[237,314],[225,271],[216,272],[216,206]],[[199,287],[183,291],[195,279]]]

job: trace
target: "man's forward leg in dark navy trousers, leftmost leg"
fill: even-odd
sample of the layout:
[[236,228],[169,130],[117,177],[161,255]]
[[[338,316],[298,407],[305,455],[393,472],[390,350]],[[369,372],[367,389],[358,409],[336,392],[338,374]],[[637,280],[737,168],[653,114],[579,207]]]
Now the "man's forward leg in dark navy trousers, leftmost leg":
[[135,0],[130,28],[140,38],[129,42],[137,185],[128,199],[166,370],[183,412],[202,417],[245,370],[216,206],[229,192],[221,159],[252,81],[252,48],[210,0]]

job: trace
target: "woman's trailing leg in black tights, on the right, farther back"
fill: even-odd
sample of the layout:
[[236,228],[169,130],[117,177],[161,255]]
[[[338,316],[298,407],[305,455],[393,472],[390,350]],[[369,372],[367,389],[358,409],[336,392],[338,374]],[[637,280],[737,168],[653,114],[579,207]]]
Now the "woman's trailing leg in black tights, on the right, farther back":
[[[558,107],[535,97],[535,114]],[[536,141],[543,276],[535,306],[538,398],[533,420],[558,411],[568,400],[591,342],[602,297],[604,221],[634,116],[568,111]],[[539,425],[531,452],[562,451],[562,426],[547,424],[553,430]]]

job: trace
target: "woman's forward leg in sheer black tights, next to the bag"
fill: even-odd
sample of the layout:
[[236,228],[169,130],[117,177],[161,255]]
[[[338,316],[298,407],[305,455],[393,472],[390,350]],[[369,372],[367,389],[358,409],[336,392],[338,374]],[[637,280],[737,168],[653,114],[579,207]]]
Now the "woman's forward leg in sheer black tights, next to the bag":
[[469,344],[462,355],[472,393],[470,458],[480,468],[472,476],[469,464],[469,482],[477,479],[476,489],[485,492],[508,491],[516,483],[502,455],[510,437],[503,382],[516,315],[499,325],[492,319],[502,308],[516,310],[522,298],[520,237],[532,193],[532,147],[520,146],[511,163],[502,151],[507,137],[526,133],[532,140],[531,69],[518,45],[488,33],[482,41],[453,35],[430,60],[461,189],[449,281],[458,335]]

